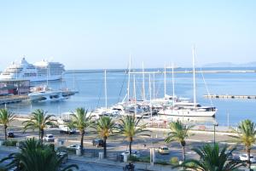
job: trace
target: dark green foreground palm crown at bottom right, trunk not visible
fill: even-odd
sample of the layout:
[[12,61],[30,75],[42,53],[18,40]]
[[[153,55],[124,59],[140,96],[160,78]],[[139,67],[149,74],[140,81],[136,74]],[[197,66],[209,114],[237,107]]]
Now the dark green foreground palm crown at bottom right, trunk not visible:
[[228,146],[225,145],[224,148],[220,149],[218,144],[207,144],[202,147],[194,148],[192,151],[195,151],[200,159],[185,160],[181,165],[177,165],[174,168],[183,167],[188,170],[197,171],[232,171],[244,166],[243,162],[230,159],[230,155],[235,148],[231,151],[227,151],[227,147]]

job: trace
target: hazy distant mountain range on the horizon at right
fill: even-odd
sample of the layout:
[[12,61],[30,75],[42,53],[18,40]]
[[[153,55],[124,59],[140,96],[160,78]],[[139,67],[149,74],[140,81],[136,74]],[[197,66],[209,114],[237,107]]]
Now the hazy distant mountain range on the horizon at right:
[[218,62],[206,64],[203,67],[256,67],[256,61],[243,64],[234,64],[231,62]]

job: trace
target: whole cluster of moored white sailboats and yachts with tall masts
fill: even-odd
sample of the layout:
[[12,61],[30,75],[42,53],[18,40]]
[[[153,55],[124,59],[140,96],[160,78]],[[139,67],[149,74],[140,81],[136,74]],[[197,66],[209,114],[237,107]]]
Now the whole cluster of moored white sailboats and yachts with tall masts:
[[122,115],[129,115],[133,113],[137,117],[150,117],[152,120],[155,114],[159,117],[214,117],[217,109],[214,106],[202,106],[196,101],[196,88],[195,88],[195,48],[193,48],[193,101],[188,98],[181,98],[175,95],[174,87],[174,66],[172,65],[172,96],[166,95],[166,67],[164,75],[164,92],[165,97],[159,99],[152,99],[151,94],[151,73],[148,72],[148,92],[149,100],[145,97],[145,71],[143,66],[143,100],[137,100],[136,79],[133,73],[133,99],[130,96],[131,89],[131,57],[128,68],[128,84],[127,94],[122,102],[108,108],[108,94],[107,94],[107,71],[104,72],[104,92],[105,92],[105,107],[98,108],[92,111],[92,116],[100,117],[108,115],[112,117],[119,117]]

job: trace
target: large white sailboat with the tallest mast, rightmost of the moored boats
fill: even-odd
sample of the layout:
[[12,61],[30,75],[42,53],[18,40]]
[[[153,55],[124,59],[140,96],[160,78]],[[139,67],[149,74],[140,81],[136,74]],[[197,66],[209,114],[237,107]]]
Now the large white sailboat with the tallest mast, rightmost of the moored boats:
[[195,48],[193,48],[193,90],[194,102],[176,102],[172,106],[167,106],[159,111],[160,115],[179,117],[214,117],[217,109],[213,106],[201,106],[196,102],[195,92]]

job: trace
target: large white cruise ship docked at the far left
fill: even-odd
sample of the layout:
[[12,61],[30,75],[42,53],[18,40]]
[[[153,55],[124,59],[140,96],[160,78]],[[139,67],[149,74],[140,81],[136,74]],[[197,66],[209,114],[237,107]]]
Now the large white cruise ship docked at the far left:
[[25,58],[22,58],[20,62],[13,62],[4,70],[0,74],[0,80],[26,79],[31,82],[51,81],[61,79],[64,71],[65,66],[59,62],[42,60],[32,65]]

